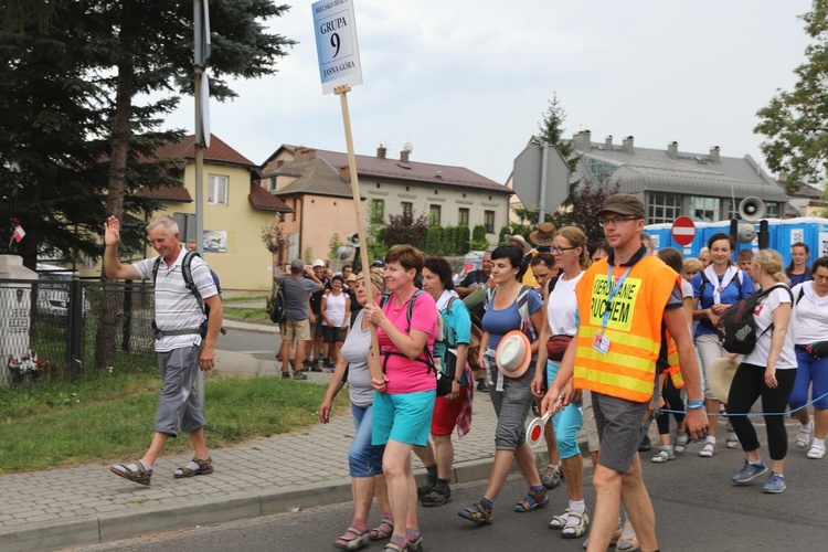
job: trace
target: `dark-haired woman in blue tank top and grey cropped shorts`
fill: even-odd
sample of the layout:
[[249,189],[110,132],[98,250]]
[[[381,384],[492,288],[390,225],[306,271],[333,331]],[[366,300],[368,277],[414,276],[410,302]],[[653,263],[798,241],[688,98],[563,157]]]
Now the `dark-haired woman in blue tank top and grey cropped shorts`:
[[[490,523],[491,512],[506,477],[517,460],[523,477],[529,484],[528,496],[514,505],[514,511],[528,512],[546,506],[546,489],[541,484],[534,454],[527,444],[526,418],[532,407],[531,383],[534,378],[534,362],[529,370],[514,379],[503,378],[495,364],[495,350],[500,339],[511,330],[520,330],[524,323],[529,327],[532,353],[537,354],[538,343],[533,339],[543,327],[543,300],[529,286],[520,283],[523,267],[523,251],[514,245],[501,245],[491,252],[491,277],[496,287],[487,295],[490,299],[482,318],[484,337],[480,342],[480,365],[487,368],[489,396],[498,424],[495,429],[495,461],[486,492],[479,502],[474,503],[458,514],[473,523]],[[519,304],[526,307],[518,308]],[[521,312],[522,311],[522,312]]]

